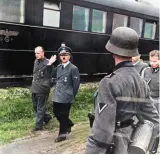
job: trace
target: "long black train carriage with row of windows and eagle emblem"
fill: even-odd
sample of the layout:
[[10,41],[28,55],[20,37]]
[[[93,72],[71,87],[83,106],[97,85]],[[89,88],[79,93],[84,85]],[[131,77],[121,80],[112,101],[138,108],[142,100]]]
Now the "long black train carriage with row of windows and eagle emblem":
[[34,48],[56,54],[61,42],[73,50],[74,64],[85,74],[109,73],[113,59],[105,50],[112,31],[137,31],[144,60],[159,49],[159,9],[130,0],[1,0],[0,74],[31,75]]

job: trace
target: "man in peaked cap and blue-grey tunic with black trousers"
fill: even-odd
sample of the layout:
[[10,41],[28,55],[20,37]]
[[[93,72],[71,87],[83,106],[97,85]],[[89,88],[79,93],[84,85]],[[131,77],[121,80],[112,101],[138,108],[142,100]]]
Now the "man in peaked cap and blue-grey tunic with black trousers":
[[69,119],[69,112],[80,85],[78,68],[69,60],[71,49],[64,43],[58,49],[62,64],[56,68],[56,86],[53,92],[53,112],[60,123],[59,135],[55,142],[66,139],[74,125]]

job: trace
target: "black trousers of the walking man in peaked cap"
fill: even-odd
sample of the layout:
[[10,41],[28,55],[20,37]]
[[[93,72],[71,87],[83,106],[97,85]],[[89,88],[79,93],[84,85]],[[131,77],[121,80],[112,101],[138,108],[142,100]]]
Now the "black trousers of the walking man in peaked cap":
[[71,103],[57,103],[53,102],[53,113],[59,121],[59,134],[67,133],[67,128],[73,125],[73,122],[69,119],[69,112]]

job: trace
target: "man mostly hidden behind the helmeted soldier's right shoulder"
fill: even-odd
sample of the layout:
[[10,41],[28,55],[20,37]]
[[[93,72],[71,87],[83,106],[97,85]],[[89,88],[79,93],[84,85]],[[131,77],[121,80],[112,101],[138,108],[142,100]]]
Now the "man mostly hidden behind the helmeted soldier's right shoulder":
[[144,63],[140,60],[140,54],[138,56],[132,57],[132,62],[135,68],[137,69],[138,73],[141,75],[144,68],[148,67],[148,64]]

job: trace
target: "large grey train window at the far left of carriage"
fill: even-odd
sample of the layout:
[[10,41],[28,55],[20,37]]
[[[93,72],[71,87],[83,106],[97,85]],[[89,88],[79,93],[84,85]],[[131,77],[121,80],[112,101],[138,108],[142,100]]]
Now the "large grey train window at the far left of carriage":
[[0,20],[24,23],[25,0],[0,0]]

